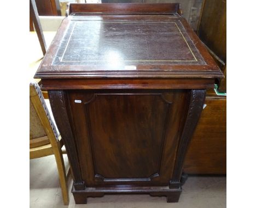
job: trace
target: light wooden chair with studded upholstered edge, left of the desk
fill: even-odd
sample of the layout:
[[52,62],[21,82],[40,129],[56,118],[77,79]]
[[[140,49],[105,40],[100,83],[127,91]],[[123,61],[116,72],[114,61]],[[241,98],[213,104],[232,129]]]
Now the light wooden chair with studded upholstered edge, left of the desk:
[[54,155],[64,205],[69,204],[63,146],[51,112],[37,82],[30,83],[30,159]]

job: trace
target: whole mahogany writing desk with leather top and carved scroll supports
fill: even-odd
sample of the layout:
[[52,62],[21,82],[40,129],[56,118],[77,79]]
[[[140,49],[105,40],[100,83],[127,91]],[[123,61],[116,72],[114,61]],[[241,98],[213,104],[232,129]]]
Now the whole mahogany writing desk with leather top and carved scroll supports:
[[71,4],[35,77],[75,203],[113,193],[178,201],[205,91],[222,76],[178,4]]

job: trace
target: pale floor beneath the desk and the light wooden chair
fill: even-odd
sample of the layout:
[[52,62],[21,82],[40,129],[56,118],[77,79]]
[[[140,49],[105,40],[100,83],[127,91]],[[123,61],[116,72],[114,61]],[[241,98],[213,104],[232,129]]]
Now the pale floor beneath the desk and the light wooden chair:
[[[67,156],[65,155],[67,164]],[[88,204],[75,205],[71,194],[72,179],[69,177],[69,206],[62,203],[61,188],[54,156],[30,160],[30,207],[168,207],[168,208],[223,208],[226,207],[226,177],[189,176],[183,186],[179,203],[166,203],[165,197],[149,195],[105,195],[88,198]]]

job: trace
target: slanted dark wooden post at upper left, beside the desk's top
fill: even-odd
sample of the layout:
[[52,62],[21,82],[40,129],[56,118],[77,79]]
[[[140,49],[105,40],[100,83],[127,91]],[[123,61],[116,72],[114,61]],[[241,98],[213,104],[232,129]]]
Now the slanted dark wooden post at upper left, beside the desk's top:
[[30,0],[30,16],[34,23],[34,28],[36,29],[42,52],[43,52],[43,54],[45,54],[46,53],[46,43],[44,40],[44,34],[43,34],[43,30],[42,30],[41,23],[39,20],[36,3],[34,2],[34,0]]

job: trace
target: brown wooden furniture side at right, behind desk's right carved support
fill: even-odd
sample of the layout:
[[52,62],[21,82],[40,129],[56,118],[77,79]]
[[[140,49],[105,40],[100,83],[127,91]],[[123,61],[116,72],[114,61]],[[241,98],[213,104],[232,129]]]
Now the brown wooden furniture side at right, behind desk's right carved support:
[[226,174],[226,97],[207,93],[188,154],[184,172]]

